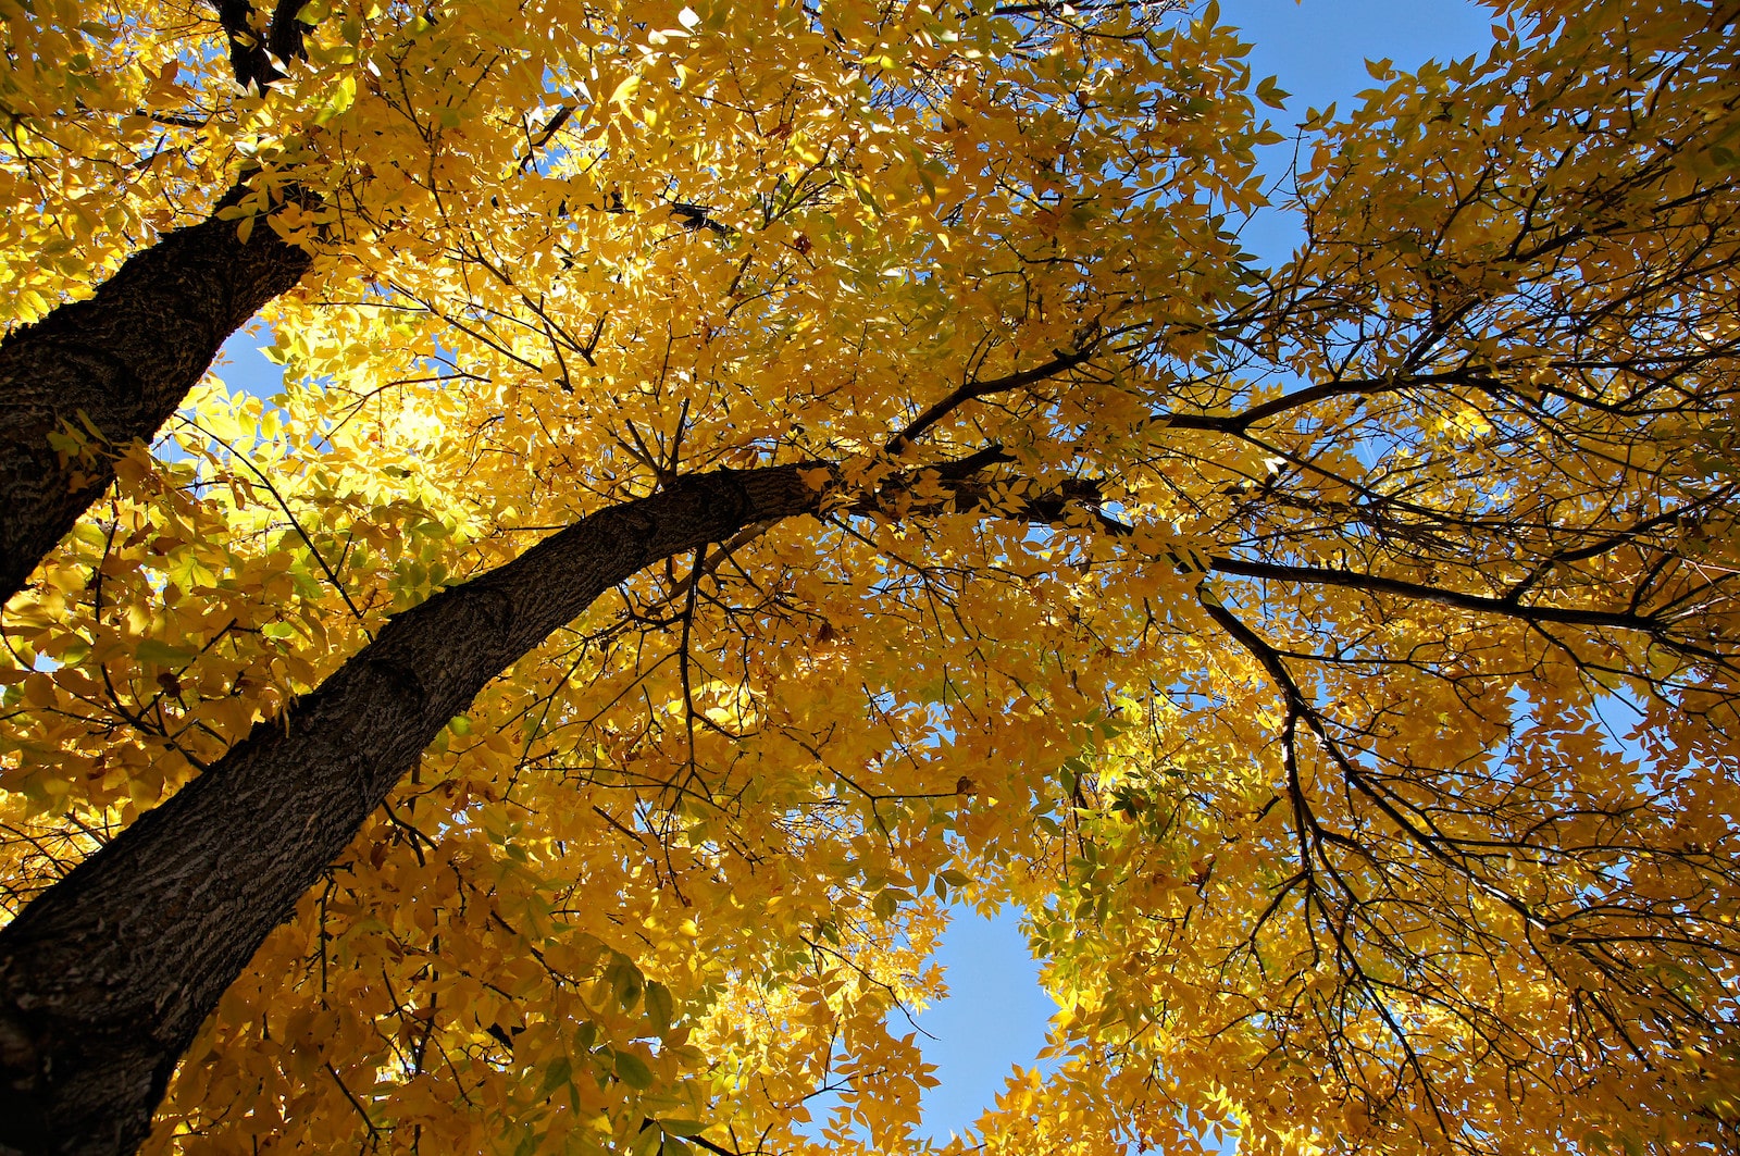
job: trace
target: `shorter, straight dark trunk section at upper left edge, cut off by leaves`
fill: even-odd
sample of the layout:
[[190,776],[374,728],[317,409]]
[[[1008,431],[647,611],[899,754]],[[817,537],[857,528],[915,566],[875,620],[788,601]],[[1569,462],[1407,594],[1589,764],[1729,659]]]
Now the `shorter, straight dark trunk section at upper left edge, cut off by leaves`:
[[[308,263],[264,221],[242,242],[235,221],[214,216],[129,258],[89,301],[0,343],[0,604],[110,484],[113,451],[150,440],[224,338]],[[106,446],[63,460],[49,435],[87,423]]]

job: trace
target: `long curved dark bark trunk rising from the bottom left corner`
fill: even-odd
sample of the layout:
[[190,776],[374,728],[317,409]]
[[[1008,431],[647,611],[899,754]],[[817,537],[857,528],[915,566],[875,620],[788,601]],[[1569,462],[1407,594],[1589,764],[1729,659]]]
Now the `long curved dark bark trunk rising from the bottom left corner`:
[[811,512],[804,467],[686,479],[398,615],[0,931],[0,1153],[132,1153],[266,933],[496,674],[642,566]]

